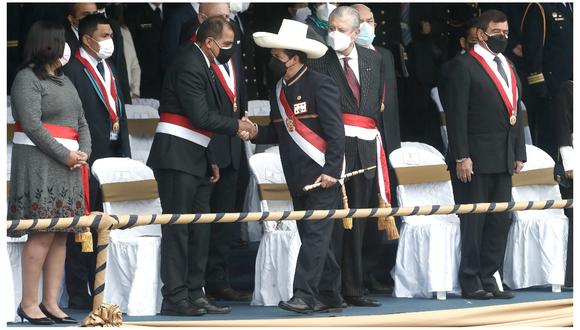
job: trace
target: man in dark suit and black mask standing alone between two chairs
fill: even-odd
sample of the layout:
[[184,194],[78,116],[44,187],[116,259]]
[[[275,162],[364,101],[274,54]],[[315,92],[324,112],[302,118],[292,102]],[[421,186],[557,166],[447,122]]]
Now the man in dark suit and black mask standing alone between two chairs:
[[[445,110],[447,163],[457,204],[511,200],[512,175],[526,161],[514,66],[502,54],[507,18],[488,10],[478,19],[478,43],[449,65]],[[468,299],[509,299],[494,273],[500,269],[511,225],[509,213],[466,214],[461,220],[459,283]]]

